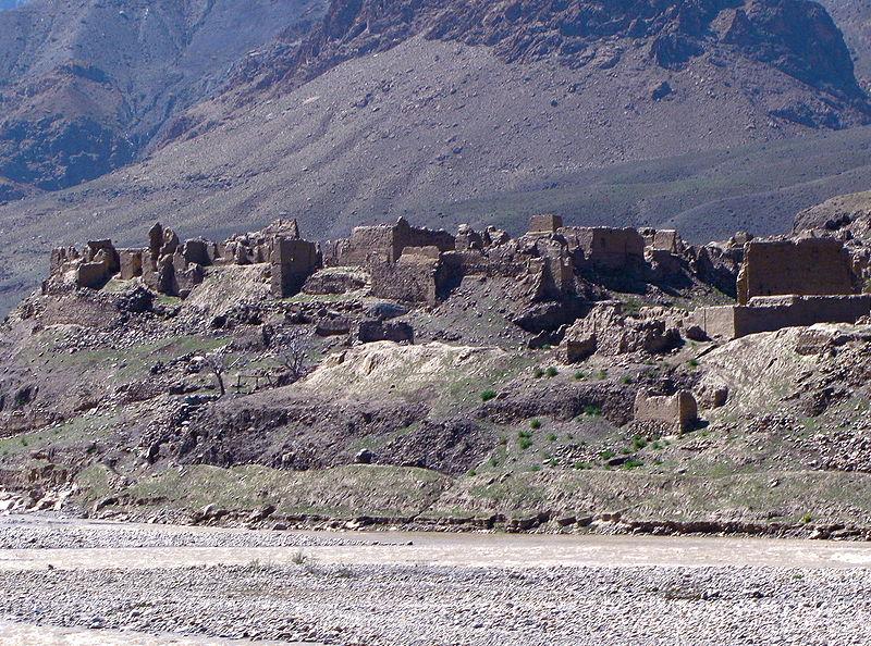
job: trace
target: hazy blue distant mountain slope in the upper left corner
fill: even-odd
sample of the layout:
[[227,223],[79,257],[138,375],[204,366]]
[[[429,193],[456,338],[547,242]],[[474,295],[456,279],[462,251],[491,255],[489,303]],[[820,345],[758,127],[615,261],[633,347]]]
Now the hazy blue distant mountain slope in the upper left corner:
[[219,87],[231,63],[322,9],[318,0],[30,0],[1,13],[0,199],[130,163],[167,120]]

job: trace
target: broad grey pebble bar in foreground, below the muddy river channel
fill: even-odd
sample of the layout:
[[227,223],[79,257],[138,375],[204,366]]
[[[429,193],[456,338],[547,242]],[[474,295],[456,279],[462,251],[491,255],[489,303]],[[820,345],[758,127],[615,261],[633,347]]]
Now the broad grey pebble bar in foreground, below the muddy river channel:
[[210,566],[0,573],[28,623],[347,645],[871,643],[871,572]]

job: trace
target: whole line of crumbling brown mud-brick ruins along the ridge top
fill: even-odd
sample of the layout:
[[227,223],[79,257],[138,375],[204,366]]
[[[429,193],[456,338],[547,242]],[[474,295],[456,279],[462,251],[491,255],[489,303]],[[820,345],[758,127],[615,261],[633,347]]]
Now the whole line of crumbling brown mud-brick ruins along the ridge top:
[[[708,337],[729,339],[786,326],[854,323],[871,308],[871,296],[858,294],[850,256],[833,238],[756,240],[739,234],[725,245],[696,247],[674,231],[566,226],[552,214],[533,216],[529,232],[516,239],[492,226],[476,232],[461,225],[452,235],[400,219],[392,225],[360,226],[346,239],[321,245],[303,239],[294,220],[223,243],[181,241],[175,232],[156,224],[145,248],[116,249],[110,240],[97,240],[82,251],[56,249],[44,290],[99,289],[119,277],[185,297],[209,266],[260,263],[269,264],[277,298],[300,290],[318,294],[329,283],[331,293],[368,286],[378,298],[434,306],[466,276],[508,278],[527,303],[515,323],[528,332],[565,330],[580,319],[568,331],[569,360],[596,351],[597,345],[608,348],[610,341],[596,340],[605,324],[623,328],[628,336],[615,347],[633,351],[638,338],[643,349],[668,347],[675,327],[692,325]],[[369,282],[323,279],[324,272],[342,268],[359,269]],[[699,308],[685,322],[668,325],[663,316],[628,319],[619,307],[602,310],[606,303],[597,309],[601,297],[596,285],[610,277],[653,283],[682,272],[716,287],[731,278],[738,303]]]

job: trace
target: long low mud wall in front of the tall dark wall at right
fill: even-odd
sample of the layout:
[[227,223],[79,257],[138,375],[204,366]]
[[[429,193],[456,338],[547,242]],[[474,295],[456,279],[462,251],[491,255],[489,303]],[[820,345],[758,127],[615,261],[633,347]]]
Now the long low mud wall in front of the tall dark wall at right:
[[815,323],[856,323],[871,314],[871,295],[756,297],[746,306],[700,308],[694,323],[711,338],[733,339]]

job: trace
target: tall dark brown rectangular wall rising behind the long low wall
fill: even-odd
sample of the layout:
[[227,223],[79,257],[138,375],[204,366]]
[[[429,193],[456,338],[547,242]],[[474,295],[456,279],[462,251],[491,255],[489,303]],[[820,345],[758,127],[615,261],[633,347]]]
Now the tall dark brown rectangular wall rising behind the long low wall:
[[755,296],[854,293],[850,256],[839,240],[751,240],[738,274],[738,302]]

